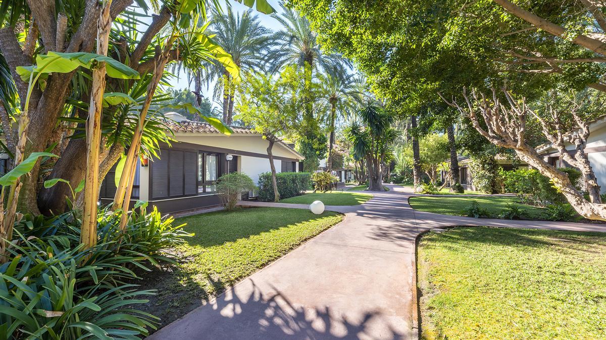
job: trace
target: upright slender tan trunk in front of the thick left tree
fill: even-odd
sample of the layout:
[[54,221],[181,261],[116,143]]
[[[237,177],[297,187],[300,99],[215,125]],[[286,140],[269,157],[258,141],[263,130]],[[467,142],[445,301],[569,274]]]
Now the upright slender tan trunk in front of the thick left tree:
[[[97,22],[97,53],[107,55],[109,35],[112,28],[110,6],[112,0],[107,0],[101,8]],[[97,243],[97,200],[99,195],[99,148],[101,148],[101,111],[105,91],[105,62],[99,62],[93,68],[93,83],[91,86],[90,106],[87,122],[87,156],[84,185],[84,207],[82,208],[82,227],[80,243],[85,248]]]

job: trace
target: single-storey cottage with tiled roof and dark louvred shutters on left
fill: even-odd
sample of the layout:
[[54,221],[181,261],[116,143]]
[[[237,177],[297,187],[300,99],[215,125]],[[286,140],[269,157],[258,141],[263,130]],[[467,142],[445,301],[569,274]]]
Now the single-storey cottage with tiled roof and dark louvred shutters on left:
[[[255,183],[259,174],[271,171],[269,142],[251,128],[231,126],[230,136],[205,122],[193,122],[177,113],[167,119],[175,134],[171,146],[161,145],[159,158],[138,165],[133,184],[132,203],[148,201],[163,213],[187,211],[221,204],[215,181],[223,174],[241,172]],[[285,143],[273,148],[278,172],[299,172],[304,157]],[[116,192],[115,166],[101,185],[101,201],[107,203]]]

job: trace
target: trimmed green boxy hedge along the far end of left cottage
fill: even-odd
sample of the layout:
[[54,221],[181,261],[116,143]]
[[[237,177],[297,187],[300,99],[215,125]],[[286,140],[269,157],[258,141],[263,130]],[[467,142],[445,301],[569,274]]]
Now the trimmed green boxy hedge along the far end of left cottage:
[[[310,186],[309,172],[278,172],[276,181],[278,182],[278,192],[280,198],[295,197],[302,195]],[[273,201],[273,188],[271,187],[271,172],[264,172],[259,175],[259,201]]]

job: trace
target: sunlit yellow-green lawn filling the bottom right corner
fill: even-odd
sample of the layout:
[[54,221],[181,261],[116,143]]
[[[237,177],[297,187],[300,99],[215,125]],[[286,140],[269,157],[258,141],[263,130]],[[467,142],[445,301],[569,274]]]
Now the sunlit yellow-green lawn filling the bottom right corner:
[[606,234],[430,232],[418,273],[425,339],[606,338]]

